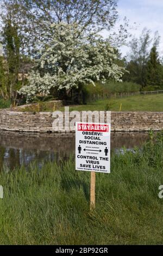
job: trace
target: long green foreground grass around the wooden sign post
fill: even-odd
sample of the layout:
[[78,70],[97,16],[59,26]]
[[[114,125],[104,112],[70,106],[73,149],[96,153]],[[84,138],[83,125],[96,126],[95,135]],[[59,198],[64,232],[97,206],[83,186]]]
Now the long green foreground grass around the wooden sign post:
[[[153,138],[153,136],[151,136]],[[96,175],[96,210],[89,210],[90,172],[74,160],[0,173],[0,243],[48,245],[162,244],[161,135],[135,153],[112,154],[111,173]]]

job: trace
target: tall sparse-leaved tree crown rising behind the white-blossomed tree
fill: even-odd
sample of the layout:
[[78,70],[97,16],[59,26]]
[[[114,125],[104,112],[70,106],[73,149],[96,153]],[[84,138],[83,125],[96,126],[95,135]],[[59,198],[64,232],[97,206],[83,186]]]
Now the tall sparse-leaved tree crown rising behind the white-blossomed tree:
[[2,0],[0,24],[3,30],[10,13],[18,28],[21,54],[31,54],[36,43],[51,37],[49,24],[75,22],[87,32],[110,29],[117,19],[116,7],[117,0]]

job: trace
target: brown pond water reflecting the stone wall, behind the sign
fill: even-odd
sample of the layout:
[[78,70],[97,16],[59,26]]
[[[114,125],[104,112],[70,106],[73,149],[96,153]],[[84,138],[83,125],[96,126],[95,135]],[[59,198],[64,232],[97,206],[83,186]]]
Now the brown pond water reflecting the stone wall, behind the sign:
[[[141,146],[147,133],[111,133],[111,150],[119,151],[123,146],[129,150]],[[0,132],[0,169],[36,162],[39,166],[51,161],[66,160],[74,154],[75,135],[34,134]]]

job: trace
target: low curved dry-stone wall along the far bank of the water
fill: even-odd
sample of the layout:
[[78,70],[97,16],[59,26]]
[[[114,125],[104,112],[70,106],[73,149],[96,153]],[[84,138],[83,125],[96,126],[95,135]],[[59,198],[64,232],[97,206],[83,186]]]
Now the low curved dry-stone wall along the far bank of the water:
[[[69,122],[73,118],[66,118]],[[0,111],[0,130],[15,132],[54,132],[52,112]],[[105,113],[106,120],[106,113]],[[78,118],[80,121],[80,118]],[[163,112],[111,112],[111,130],[145,131],[163,129]],[[65,132],[60,127],[59,132]],[[68,132],[68,129],[66,130]]]

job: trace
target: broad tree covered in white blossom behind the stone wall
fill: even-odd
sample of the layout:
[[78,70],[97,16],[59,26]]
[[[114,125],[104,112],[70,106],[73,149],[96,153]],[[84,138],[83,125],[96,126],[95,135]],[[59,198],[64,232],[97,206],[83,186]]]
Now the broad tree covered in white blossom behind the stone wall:
[[36,94],[62,92],[101,80],[121,81],[124,68],[115,63],[117,52],[108,40],[93,33],[86,34],[77,23],[54,23],[53,37],[36,51],[36,61],[30,74],[29,86],[20,92],[33,99]]

